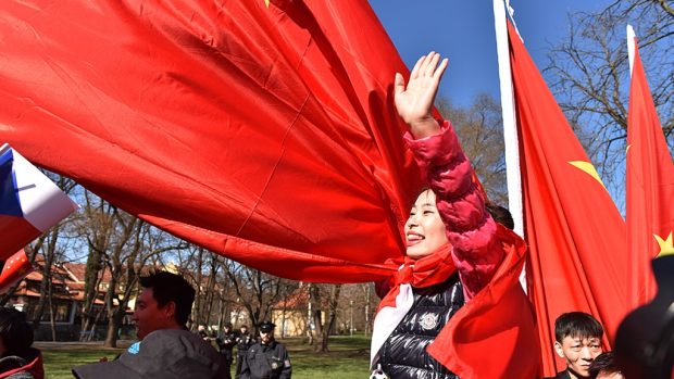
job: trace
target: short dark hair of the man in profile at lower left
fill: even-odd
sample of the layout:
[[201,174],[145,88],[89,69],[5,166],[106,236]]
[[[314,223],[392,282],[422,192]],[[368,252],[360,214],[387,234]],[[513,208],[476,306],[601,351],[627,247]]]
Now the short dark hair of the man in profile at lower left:
[[142,288],[151,288],[152,295],[159,306],[168,302],[175,303],[175,320],[179,325],[187,324],[195,302],[195,289],[179,275],[168,271],[151,273],[140,277]]

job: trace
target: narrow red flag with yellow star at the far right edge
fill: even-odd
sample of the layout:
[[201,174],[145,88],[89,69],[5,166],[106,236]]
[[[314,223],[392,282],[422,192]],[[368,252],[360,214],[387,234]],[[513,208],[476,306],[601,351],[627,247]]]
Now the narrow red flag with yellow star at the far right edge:
[[652,300],[658,290],[651,260],[674,252],[674,165],[636,38],[627,116],[626,204],[629,299],[636,307]]

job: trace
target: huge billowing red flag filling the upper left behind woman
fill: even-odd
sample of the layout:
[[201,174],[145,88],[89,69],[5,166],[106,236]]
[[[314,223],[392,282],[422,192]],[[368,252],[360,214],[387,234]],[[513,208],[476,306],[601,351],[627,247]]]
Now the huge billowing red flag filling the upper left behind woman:
[[0,141],[176,236],[314,281],[402,251],[407,68],[365,0],[8,0],[0,62]]

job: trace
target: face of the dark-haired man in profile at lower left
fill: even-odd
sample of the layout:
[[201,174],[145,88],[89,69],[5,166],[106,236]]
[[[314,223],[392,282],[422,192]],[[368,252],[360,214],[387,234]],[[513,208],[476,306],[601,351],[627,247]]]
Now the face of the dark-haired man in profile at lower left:
[[146,288],[136,301],[134,311],[134,323],[136,324],[136,334],[139,340],[159,329],[172,329],[173,311],[172,302],[165,306],[159,306],[151,288]]

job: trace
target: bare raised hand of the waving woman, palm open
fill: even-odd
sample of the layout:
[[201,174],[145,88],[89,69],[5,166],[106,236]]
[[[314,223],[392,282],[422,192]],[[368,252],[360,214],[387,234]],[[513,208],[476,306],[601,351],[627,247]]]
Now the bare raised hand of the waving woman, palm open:
[[449,61],[444,59],[439,65],[438,62],[440,62],[440,54],[433,51],[420,58],[412,68],[407,87],[402,75],[396,73],[396,109],[398,115],[410,125],[410,131],[414,138],[424,138],[440,130],[430,110]]

